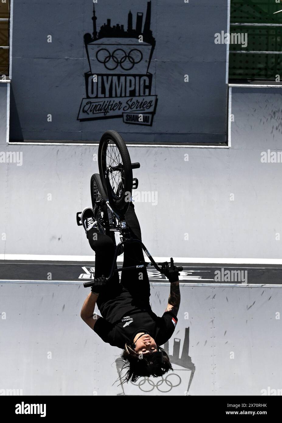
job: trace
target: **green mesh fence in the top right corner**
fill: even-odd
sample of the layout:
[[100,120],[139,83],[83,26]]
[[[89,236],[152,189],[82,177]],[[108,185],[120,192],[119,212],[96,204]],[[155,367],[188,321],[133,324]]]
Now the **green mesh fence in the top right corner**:
[[[279,10],[281,13],[274,14]],[[282,1],[231,0],[230,33],[244,35],[243,40],[247,34],[247,46],[230,44],[230,79],[276,80],[280,75],[282,80],[282,26],[279,25],[282,25]]]

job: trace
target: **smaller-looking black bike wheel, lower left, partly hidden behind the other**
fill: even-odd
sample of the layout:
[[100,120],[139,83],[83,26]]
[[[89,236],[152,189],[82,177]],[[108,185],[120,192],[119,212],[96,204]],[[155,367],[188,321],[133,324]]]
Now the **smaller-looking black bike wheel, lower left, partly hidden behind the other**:
[[[94,173],[91,176],[90,191],[91,191],[91,203],[92,203],[95,219],[97,221],[102,220],[105,226],[109,227],[111,223],[110,220],[113,218],[111,211],[107,208],[106,204],[99,206],[99,208],[96,206],[96,200],[99,200],[99,199],[107,200],[107,194],[104,190],[99,173]],[[101,215],[101,212],[103,213],[103,215]],[[110,231],[108,228],[104,228],[100,224],[99,224],[99,228],[105,235],[110,236],[110,238],[115,243],[115,234],[112,231]]]

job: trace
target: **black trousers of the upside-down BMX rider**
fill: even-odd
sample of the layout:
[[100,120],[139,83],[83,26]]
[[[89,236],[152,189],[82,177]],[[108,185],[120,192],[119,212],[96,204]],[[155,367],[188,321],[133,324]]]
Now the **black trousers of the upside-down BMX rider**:
[[[141,229],[134,211],[134,204],[130,203],[129,209],[125,215],[126,223],[130,228],[131,236],[141,241]],[[88,233],[90,247],[95,251],[95,275],[109,276],[115,254],[115,244],[110,236],[97,233],[97,230],[91,229]],[[94,238],[94,239],[93,239]],[[129,243],[124,245],[123,267],[137,266],[140,261],[144,261],[142,247],[139,243]],[[140,276],[141,275],[141,276]],[[102,310],[104,303],[115,297],[123,297],[125,301],[131,297],[133,304],[140,307],[148,307],[150,297],[150,283],[147,269],[130,269],[121,272],[119,282],[118,272],[114,272],[112,278],[108,281],[105,291],[99,294],[97,306]]]

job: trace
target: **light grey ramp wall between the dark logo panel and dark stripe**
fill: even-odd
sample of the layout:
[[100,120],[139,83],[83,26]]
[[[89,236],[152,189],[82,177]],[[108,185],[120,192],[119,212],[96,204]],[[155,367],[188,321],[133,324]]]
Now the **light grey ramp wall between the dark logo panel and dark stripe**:
[[[157,193],[156,205],[135,203],[154,256],[281,258],[282,164],[261,162],[262,151],[281,148],[281,101],[279,89],[233,88],[229,149],[129,147],[141,163],[137,191]],[[75,214],[90,205],[98,147],[5,148],[23,162],[0,165],[1,253],[91,255]]]

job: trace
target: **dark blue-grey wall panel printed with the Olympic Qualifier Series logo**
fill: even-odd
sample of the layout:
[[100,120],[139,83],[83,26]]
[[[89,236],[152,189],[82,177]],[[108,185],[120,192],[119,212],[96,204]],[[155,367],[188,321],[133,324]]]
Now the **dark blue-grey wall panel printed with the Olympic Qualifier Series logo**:
[[[132,47],[142,52],[140,63],[145,70],[138,69],[137,63],[132,69],[126,68],[128,71],[119,65],[112,72],[96,60],[98,41],[92,46],[94,50],[88,49],[91,64],[88,62],[83,37],[93,32],[92,0],[47,3],[14,0],[11,140],[93,142],[111,126],[125,133],[129,141],[140,143],[225,143],[227,46],[215,44],[214,34],[227,31],[228,2],[201,0],[198,3],[152,0],[151,31],[156,43],[153,55],[150,57],[147,51],[153,41],[146,44],[144,38],[146,45],[142,45],[135,38]],[[98,1],[95,4],[97,31],[107,19],[111,19],[111,26],[119,23],[127,30],[129,10],[133,27],[137,12],[143,13],[144,31],[146,8],[147,0]],[[48,36],[52,36],[52,42],[47,42]],[[129,53],[130,42],[132,37],[99,38],[100,47],[111,53],[115,48]],[[115,60],[120,60],[122,54],[119,50]],[[105,64],[109,67],[115,62],[109,60]],[[146,75],[152,78],[151,87],[145,97],[141,91],[132,90],[125,97],[103,92],[98,98],[90,98],[85,87],[85,74],[90,72],[99,78]],[[185,75],[189,76],[189,82],[184,82]],[[149,101],[150,96],[156,106],[154,111],[148,110],[153,113],[152,126],[124,123],[122,112],[119,117],[107,113],[110,120],[95,115],[98,120],[80,121],[93,117],[86,112],[79,115],[83,99],[121,101],[126,110],[126,101],[131,97],[141,102],[143,98]],[[132,111],[146,114],[146,110],[136,106]],[[52,122],[47,121],[47,115],[52,115]]]

